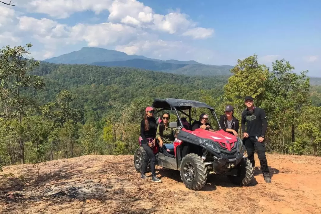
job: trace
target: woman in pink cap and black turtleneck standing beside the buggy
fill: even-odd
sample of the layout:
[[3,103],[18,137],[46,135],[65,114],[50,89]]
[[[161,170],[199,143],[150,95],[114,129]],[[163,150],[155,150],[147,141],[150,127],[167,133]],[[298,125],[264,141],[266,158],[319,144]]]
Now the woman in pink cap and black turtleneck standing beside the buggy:
[[141,178],[145,179],[147,176],[145,175],[147,171],[148,160],[151,160],[151,171],[152,171],[152,181],[153,182],[161,182],[161,180],[156,177],[155,173],[155,161],[156,157],[153,153],[152,146],[155,146],[156,140],[156,120],[153,117],[155,113],[155,109],[153,107],[147,107],[145,109],[144,119],[141,121],[141,134],[140,134],[140,142],[142,144],[143,149],[146,151],[148,158],[144,158],[141,168]]

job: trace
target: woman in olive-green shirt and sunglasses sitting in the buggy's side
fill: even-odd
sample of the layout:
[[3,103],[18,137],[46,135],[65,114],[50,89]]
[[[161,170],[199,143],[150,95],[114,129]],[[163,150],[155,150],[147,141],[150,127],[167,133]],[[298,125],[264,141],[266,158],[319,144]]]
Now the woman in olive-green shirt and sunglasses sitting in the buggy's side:
[[164,143],[172,143],[175,139],[173,131],[179,131],[177,128],[169,127],[169,118],[169,113],[164,113],[161,117],[162,121],[157,126],[156,138],[159,140],[160,147],[162,147]]

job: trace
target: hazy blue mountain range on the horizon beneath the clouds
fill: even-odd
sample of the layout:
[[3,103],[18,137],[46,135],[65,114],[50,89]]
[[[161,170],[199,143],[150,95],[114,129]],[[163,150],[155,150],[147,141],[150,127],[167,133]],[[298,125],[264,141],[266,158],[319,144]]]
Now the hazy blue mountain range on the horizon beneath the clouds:
[[231,65],[207,65],[194,60],[160,60],[139,55],[108,50],[99,47],[82,47],[78,51],[45,59],[45,62],[55,64],[90,64],[106,67],[134,67],[152,71],[185,74],[189,76],[231,75]]

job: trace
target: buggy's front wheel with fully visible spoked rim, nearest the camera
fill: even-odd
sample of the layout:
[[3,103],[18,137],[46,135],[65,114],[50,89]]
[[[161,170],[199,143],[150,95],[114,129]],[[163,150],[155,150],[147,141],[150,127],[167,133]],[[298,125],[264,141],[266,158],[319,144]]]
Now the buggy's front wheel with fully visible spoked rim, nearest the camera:
[[[194,170],[194,177],[191,172]],[[204,161],[196,154],[186,155],[180,165],[180,175],[183,183],[188,189],[200,190],[207,180],[207,170]]]

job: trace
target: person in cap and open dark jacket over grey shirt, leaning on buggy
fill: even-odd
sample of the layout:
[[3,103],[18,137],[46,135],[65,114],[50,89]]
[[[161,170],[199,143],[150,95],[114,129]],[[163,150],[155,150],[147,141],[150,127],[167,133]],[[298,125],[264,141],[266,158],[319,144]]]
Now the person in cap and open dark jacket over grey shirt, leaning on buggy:
[[230,134],[238,136],[239,131],[239,120],[233,115],[234,108],[231,105],[225,107],[224,115],[220,116],[220,125],[225,127],[223,130]]

